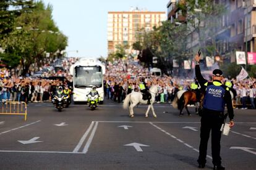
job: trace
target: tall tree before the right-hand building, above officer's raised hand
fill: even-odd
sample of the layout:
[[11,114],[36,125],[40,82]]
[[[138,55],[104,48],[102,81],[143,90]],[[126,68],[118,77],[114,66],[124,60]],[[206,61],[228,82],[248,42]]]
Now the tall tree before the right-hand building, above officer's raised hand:
[[220,2],[212,0],[187,0],[179,3],[182,14],[186,15],[186,24],[190,33],[197,33],[198,46],[205,55],[215,55],[216,33],[221,25],[221,17],[226,9]]

